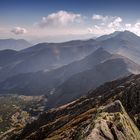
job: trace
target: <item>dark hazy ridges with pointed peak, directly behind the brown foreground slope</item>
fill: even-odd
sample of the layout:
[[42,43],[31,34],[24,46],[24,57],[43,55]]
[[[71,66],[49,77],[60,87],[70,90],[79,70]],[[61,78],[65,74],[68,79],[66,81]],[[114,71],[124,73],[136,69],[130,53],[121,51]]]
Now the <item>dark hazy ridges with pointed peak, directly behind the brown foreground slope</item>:
[[52,108],[77,99],[107,81],[138,73],[138,64],[99,48],[84,59],[53,71],[12,76],[0,83],[0,93],[46,94],[47,107]]

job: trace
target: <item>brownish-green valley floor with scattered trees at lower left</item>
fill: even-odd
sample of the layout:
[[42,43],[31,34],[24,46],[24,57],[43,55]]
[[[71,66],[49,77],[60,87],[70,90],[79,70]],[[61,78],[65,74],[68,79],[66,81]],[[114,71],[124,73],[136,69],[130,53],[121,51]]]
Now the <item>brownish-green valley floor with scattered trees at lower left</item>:
[[45,96],[0,96],[0,139],[23,128],[45,110]]

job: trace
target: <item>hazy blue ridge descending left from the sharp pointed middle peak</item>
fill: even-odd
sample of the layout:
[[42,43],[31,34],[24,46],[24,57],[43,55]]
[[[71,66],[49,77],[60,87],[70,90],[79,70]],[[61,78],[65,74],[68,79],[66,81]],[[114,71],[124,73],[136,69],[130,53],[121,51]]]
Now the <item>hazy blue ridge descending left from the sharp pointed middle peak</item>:
[[12,76],[4,82],[1,82],[0,90],[1,93],[7,90],[7,92],[19,92],[23,94],[47,94],[49,90],[58,87],[72,75],[91,69],[111,57],[112,54],[99,48],[82,60],[75,61],[49,72],[40,71]]

